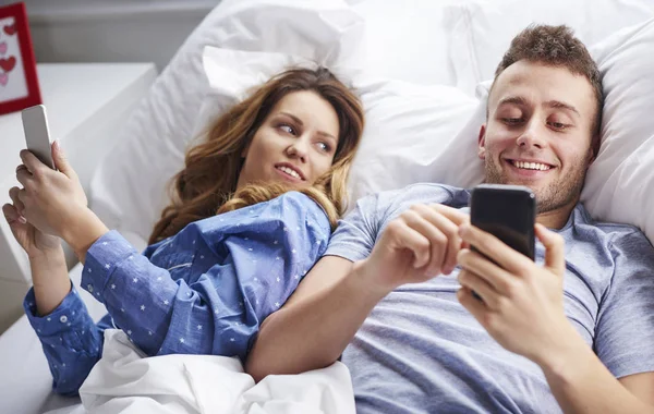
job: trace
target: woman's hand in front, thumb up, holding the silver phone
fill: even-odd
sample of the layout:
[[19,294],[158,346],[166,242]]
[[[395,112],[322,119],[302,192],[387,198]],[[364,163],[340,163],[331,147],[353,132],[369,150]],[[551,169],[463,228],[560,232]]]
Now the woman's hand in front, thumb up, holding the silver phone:
[[28,150],[21,151],[23,163],[16,168],[16,179],[23,188],[13,187],[11,194],[22,205],[20,212],[28,223],[44,233],[62,238],[63,231],[74,227],[75,220],[87,210],[87,199],[77,174],[65,159],[59,144],[52,144],[52,158],[59,171],[39,161]]

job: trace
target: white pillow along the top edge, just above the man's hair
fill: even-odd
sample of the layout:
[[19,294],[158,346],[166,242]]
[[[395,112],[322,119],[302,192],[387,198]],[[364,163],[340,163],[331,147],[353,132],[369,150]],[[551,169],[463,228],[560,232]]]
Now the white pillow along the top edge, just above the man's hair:
[[654,16],[652,0],[474,0],[445,11],[456,85],[491,78],[511,39],[532,23],[567,24],[585,44]]

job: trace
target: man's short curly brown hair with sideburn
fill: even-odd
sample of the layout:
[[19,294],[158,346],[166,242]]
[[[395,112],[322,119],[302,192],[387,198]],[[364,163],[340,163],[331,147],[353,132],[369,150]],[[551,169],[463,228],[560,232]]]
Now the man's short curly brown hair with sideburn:
[[511,40],[495,71],[495,81],[511,64],[526,60],[549,66],[566,68],[576,75],[584,76],[591,83],[597,101],[595,120],[591,133],[593,155],[600,150],[600,132],[602,129],[602,107],[604,95],[597,64],[591,58],[585,46],[574,37],[568,26],[531,25]]

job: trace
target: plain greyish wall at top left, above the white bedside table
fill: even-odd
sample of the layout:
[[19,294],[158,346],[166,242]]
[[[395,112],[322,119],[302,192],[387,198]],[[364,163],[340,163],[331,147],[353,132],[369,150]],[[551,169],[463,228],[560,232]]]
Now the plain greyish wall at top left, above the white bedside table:
[[155,62],[159,70],[219,2],[25,0],[38,62]]

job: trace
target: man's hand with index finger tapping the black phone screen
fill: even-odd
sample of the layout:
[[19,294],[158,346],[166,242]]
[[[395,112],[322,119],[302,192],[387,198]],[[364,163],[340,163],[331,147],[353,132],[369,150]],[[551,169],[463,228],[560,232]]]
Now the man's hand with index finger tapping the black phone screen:
[[390,221],[363,263],[371,289],[388,293],[404,283],[449,275],[461,249],[459,226],[468,215],[443,205],[414,205]]

